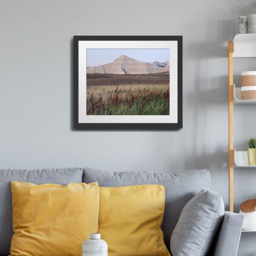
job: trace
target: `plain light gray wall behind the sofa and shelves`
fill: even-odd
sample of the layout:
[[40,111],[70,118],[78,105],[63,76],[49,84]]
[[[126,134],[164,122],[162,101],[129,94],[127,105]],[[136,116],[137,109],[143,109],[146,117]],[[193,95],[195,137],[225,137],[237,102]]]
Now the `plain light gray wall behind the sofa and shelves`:
[[[209,168],[228,204],[227,41],[253,0],[0,0],[0,167],[114,171]],[[183,129],[74,131],[73,35],[183,35]],[[251,59],[235,62],[255,70]],[[253,106],[235,106],[235,145],[255,134]],[[245,131],[246,128],[246,131]],[[236,209],[255,197],[255,170],[235,171]],[[239,256],[255,255],[242,234]]]

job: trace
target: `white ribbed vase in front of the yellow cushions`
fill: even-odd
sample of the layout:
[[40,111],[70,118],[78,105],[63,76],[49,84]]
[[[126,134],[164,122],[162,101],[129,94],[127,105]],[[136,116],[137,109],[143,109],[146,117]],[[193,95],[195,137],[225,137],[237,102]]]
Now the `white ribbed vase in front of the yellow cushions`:
[[100,239],[100,234],[90,234],[90,239],[82,245],[83,256],[108,256],[108,244]]

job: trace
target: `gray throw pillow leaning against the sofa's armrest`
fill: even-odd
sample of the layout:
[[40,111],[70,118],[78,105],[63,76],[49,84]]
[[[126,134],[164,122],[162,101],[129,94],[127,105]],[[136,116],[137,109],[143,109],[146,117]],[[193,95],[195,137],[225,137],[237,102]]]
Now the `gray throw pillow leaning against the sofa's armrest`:
[[171,237],[173,256],[204,256],[224,216],[217,192],[202,190],[183,208]]

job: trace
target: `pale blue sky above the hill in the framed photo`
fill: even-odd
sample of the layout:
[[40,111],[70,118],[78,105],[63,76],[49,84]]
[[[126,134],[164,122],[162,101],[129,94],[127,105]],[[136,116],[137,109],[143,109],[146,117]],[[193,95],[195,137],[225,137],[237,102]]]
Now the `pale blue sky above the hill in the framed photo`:
[[87,67],[113,62],[121,55],[127,55],[137,61],[170,61],[169,49],[87,49]]

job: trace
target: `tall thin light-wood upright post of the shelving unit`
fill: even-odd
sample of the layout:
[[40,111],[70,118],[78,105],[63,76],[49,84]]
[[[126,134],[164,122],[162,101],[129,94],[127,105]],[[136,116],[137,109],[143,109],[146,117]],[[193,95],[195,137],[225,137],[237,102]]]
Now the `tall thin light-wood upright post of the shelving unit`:
[[228,42],[228,76],[229,76],[229,208],[234,211],[234,143],[233,143],[233,41]]

